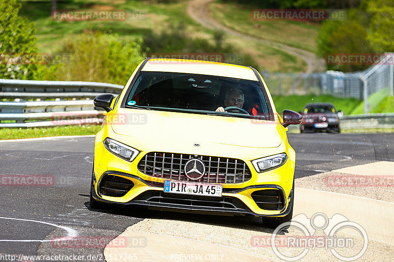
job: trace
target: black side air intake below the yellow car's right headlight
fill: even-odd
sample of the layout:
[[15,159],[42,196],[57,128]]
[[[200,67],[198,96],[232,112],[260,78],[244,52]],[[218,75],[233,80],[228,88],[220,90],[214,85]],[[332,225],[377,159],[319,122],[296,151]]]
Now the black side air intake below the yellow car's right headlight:
[[265,210],[282,210],[285,205],[285,199],[278,189],[264,189],[255,191],[251,194],[256,204]]

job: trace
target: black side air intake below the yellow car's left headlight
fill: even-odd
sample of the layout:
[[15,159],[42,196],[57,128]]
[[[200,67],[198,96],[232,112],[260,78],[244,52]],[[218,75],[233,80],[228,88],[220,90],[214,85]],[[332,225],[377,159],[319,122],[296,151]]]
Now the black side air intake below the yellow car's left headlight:
[[99,184],[99,192],[102,196],[123,197],[134,186],[134,183],[117,175],[105,175]]

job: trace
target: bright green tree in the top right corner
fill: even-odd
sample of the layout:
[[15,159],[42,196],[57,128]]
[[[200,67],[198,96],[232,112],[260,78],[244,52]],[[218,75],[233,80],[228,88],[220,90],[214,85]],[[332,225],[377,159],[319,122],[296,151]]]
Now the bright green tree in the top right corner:
[[394,1],[376,0],[368,3],[367,12],[371,17],[369,40],[375,52],[394,51]]

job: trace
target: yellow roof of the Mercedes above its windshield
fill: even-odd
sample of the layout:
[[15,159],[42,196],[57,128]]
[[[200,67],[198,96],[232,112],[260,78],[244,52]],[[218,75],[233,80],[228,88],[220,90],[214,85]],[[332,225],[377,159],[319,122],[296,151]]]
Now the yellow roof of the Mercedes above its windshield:
[[141,71],[191,73],[258,81],[251,67],[203,60],[150,58]]

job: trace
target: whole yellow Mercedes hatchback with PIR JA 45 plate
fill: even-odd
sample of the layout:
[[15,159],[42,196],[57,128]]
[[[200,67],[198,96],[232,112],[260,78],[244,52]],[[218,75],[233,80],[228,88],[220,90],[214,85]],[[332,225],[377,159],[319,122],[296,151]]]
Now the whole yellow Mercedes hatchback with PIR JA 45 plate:
[[255,215],[290,221],[296,153],[259,72],[200,60],[146,58],[119,96],[102,94],[92,208]]

